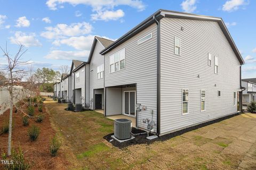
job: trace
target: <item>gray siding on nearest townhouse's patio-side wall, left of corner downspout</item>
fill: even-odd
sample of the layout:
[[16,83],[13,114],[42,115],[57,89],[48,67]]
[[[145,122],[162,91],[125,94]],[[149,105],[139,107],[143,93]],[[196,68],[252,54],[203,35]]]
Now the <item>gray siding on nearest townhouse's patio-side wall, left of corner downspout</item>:
[[[138,45],[138,40],[149,33],[153,33],[153,38]],[[110,73],[110,55],[118,50],[125,48],[125,69]],[[153,109],[153,121],[156,124],[157,115],[157,46],[156,46],[156,24],[150,25],[145,30],[133,36],[123,44],[117,46],[109,53],[105,54],[105,87],[119,86],[123,84],[137,83],[137,103],[147,106],[146,111],[141,111],[137,117],[139,128],[146,129],[147,124],[142,119],[151,120],[151,109]],[[108,100],[115,99],[115,96],[109,96],[107,89],[107,110],[106,114],[117,114],[116,110],[108,109],[110,104]],[[110,98],[113,97],[113,98]],[[123,104],[121,104],[123,105]],[[119,108],[116,108],[119,109]],[[121,114],[119,112],[118,114]],[[156,131],[156,125],[154,125]]]

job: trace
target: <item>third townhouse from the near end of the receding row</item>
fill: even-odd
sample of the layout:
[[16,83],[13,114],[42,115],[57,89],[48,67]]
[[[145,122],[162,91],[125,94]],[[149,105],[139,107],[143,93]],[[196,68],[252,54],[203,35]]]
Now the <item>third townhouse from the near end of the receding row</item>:
[[[80,76],[78,76],[78,74],[76,74],[75,77],[75,73],[73,72],[78,66],[80,66],[81,64],[83,64],[83,61],[78,61],[78,60],[73,60],[72,64],[71,64],[71,69],[70,69],[70,81],[71,81],[71,95],[69,96],[69,100],[72,101],[74,104],[81,104],[82,100],[81,100],[81,95],[82,95],[82,91],[79,91],[79,89],[77,90],[77,96],[75,96],[75,82],[80,79]],[[77,77],[78,76],[78,77]],[[78,97],[77,101],[76,101],[76,97]]]

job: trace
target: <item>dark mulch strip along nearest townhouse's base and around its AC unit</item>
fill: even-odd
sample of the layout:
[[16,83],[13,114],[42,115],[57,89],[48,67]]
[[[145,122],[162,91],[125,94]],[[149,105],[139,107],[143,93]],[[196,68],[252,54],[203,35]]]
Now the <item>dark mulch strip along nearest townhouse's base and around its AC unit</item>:
[[[125,148],[125,147],[130,146],[130,145],[140,145],[140,144],[149,145],[150,143],[153,143],[155,141],[169,140],[169,139],[171,139],[173,137],[177,137],[178,135],[181,135],[183,133],[193,131],[193,130],[196,130],[198,128],[203,128],[204,126],[207,126],[207,125],[210,125],[210,124],[213,124],[213,123],[218,123],[220,121],[226,120],[227,118],[231,118],[231,117],[234,117],[234,116],[237,116],[237,115],[239,115],[239,113],[236,113],[236,114],[233,114],[233,115],[228,115],[228,116],[225,116],[225,117],[221,117],[221,118],[218,118],[216,120],[205,122],[205,123],[198,124],[198,125],[195,125],[195,126],[191,126],[189,128],[182,129],[182,130],[179,130],[179,131],[176,131],[176,132],[161,135],[161,136],[158,136],[158,138],[153,139],[153,140],[146,139],[148,135],[147,134],[142,134],[142,135],[139,135],[139,136],[135,137],[134,139],[131,139],[129,141],[125,141],[125,142],[122,142],[122,143],[118,142],[117,140],[113,140],[110,143],[113,146],[115,146],[117,148],[120,148],[120,149]],[[132,128],[132,133],[142,133],[142,132],[145,132],[145,131],[139,130],[139,129],[136,129],[136,128]],[[110,134],[106,135],[105,137],[103,137],[103,139],[105,139],[109,142],[111,139],[113,139],[113,138],[111,138],[111,135],[114,135],[114,133],[110,133]],[[154,135],[154,134],[150,133],[149,136],[150,135]]]

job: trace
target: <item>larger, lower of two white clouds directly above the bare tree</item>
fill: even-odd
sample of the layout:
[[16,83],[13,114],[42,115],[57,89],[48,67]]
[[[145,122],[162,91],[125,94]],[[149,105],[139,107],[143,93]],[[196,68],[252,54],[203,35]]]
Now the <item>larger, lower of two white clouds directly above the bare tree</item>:
[[42,46],[42,44],[39,42],[38,39],[35,38],[35,33],[30,33],[29,35],[26,35],[26,33],[23,33],[21,31],[15,32],[14,37],[10,37],[12,44],[22,44],[26,47],[31,46]]

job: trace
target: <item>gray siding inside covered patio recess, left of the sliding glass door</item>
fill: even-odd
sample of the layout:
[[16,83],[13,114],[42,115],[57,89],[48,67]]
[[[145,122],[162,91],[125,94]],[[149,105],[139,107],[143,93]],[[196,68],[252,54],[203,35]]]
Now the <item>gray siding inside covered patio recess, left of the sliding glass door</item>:
[[107,116],[122,113],[122,88],[106,88]]

